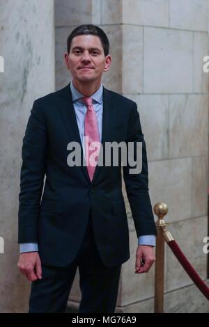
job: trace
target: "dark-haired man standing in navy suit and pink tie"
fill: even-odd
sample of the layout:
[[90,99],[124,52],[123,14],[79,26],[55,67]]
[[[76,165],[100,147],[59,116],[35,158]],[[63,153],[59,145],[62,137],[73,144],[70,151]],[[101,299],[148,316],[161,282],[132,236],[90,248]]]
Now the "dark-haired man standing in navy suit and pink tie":
[[[137,273],[155,261],[146,145],[137,104],[102,86],[111,65],[102,29],[82,25],[72,31],[65,65],[70,85],[33,103],[23,139],[18,266],[32,282],[29,312],[65,312],[77,267],[79,312],[114,312],[121,265],[130,258],[123,163],[100,166],[98,155],[93,163],[91,143],[99,142],[101,152],[107,142],[142,142],[141,172],[123,166],[138,237]],[[86,165],[69,164],[75,142]]]

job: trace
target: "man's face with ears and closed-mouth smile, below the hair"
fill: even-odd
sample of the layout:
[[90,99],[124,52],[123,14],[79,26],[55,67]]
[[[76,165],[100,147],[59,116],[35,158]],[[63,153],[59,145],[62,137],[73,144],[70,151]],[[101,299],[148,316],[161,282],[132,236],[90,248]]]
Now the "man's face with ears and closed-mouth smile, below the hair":
[[101,81],[102,73],[109,69],[111,56],[104,56],[100,38],[78,35],[72,39],[70,53],[65,54],[65,65],[72,78],[81,82]]

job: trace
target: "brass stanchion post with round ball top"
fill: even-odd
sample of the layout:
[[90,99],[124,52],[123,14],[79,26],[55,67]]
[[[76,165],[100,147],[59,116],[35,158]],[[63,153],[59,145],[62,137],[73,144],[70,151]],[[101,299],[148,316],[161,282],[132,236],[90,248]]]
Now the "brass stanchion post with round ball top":
[[164,308],[164,227],[168,225],[164,222],[164,216],[168,212],[168,207],[163,202],[156,203],[154,212],[158,219],[156,222],[156,261],[155,261],[155,313],[163,313]]

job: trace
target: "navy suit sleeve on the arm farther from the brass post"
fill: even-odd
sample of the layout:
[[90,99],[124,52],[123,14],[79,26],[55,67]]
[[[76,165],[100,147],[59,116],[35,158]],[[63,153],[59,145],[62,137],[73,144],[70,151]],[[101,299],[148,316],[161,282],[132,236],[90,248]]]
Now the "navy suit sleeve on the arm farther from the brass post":
[[41,107],[36,100],[26,125],[22,145],[18,211],[18,243],[38,241],[38,216],[45,177],[47,133]]

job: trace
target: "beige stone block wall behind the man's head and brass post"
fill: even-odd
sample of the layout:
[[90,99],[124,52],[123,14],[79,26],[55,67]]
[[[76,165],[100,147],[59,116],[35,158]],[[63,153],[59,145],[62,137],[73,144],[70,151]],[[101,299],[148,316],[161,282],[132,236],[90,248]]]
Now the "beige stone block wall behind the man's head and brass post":
[[[203,237],[208,208],[208,0],[56,0],[56,88],[70,80],[63,65],[68,34],[79,24],[101,26],[110,41],[104,86],[138,104],[148,150],[150,197],[169,207],[169,230],[206,279]],[[84,4],[85,3],[85,4]],[[127,203],[127,212],[130,209]],[[134,274],[137,235],[123,264],[117,310],[153,312],[154,268]],[[78,275],[70,305],[80,298]],[[165,311],[206,312],[207,301],[166,247]],[[194,297],[191,303],[191,298]],[[182,298],[182,301],[179,301]]]

